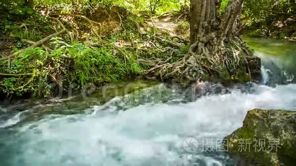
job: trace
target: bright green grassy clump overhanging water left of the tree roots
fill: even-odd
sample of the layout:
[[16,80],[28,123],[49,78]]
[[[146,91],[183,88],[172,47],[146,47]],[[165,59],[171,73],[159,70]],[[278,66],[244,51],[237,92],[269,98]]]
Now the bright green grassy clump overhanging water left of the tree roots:
[[73,61],[68,80],[74,80],[84,86],[89,82],[101,84],[118,81],[126,74],[124,63],[119,58],[111,56],[111,51],[106,48],[93,50],[79,45],[78,47],[81,48],[71,47],[67,54]]

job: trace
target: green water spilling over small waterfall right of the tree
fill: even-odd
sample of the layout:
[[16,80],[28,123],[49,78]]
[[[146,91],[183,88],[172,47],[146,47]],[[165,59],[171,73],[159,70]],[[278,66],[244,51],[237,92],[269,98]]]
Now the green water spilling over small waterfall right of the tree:
[[[296,42],[266,38],[245,37],[255,54],[261,58],[263,73],[268,74],[267,84],[295,83]],[[267,70],[266,70],[267,69]]]

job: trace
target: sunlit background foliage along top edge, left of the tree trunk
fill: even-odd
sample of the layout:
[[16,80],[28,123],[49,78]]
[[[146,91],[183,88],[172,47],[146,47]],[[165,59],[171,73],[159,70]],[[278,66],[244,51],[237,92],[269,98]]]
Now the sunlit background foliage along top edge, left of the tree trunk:
[[[183,4],[189,1],[180,0],[30,0],[30,4],[25,4],[25,0],[2,0],[0,2],[0,10],[3,13],[10,13],[17,16],[30,16],[34,14],[32,8],[47,8],[64,12],[75,12],[73,9],[82,13],[93,10],[95,8],[111,6],[124,7],[129,11],[149,11],[152,14],[163,14],[170,10],[180,10]],[[73,8],[76,6],[76,8]],[[78,7],[78,8],[77,8]],[[0,12],[1,13],[1,12]]]

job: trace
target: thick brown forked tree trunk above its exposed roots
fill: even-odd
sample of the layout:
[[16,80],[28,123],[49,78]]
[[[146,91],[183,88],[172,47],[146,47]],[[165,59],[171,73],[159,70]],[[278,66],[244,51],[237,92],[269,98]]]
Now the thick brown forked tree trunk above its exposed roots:
[[[238,30],[239,17],[244,0],[234,0],[228,5],[226,12],[219,18],[218,8],[221,1],[191,0],[190,4],[190,44],[191,50],[200,51],[210,43],[214,50],[216,45],[224,45],[225,38],[233,38]],[[213,41],[213,39],[215,39]],[[218,43],[217,43],[218,42]],[[200,47],[200,48],[199,48]],[[209,49],[209,48],[208,48]]]

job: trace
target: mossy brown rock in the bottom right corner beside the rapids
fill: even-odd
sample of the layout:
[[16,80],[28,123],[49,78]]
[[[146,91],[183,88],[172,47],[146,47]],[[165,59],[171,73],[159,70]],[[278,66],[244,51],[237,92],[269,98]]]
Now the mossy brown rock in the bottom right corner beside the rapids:
[[243,156],[259,165],[294,165],[296,112],[250,110],[243,126],[225,137],[225,146],[230,154]]

